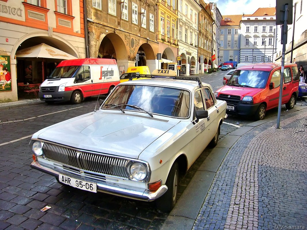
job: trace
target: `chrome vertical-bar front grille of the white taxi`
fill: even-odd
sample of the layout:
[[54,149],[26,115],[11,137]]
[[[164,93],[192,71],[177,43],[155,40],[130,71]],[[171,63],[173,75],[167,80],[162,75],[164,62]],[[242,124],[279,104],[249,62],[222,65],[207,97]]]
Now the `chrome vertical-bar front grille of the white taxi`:
[[48,142],[44,142],[43,151],[47,159],[64,165],[110,176],[129,178],[125,167],[129,163],[129,159],[78,151]]

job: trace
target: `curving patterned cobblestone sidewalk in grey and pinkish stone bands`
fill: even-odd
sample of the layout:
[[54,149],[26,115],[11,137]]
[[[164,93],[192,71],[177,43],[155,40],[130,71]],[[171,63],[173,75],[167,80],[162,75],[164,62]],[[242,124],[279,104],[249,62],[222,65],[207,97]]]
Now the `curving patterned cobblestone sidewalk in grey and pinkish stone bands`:
[[[273,120],[228,151],[193,229],[307,228],[307,111]],[[269,128],[268,128],[269,127]]]

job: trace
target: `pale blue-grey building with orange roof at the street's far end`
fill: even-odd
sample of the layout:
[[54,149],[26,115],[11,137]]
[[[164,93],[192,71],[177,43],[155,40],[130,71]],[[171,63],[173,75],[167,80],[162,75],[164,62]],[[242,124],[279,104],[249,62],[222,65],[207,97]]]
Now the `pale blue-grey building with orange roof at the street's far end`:
[[220,29],[219,65],[227,61],[239,63],[240,21],[242,15],[223,15]]

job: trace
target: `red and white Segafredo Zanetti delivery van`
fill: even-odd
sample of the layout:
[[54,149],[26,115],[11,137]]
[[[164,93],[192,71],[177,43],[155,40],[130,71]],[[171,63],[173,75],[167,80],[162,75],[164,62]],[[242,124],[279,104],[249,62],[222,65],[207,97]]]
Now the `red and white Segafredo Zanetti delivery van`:
[[46,103],[71,101],[109,94],[120,83],[115,59],[83,58],[61,61],[41,83],[38,96]]

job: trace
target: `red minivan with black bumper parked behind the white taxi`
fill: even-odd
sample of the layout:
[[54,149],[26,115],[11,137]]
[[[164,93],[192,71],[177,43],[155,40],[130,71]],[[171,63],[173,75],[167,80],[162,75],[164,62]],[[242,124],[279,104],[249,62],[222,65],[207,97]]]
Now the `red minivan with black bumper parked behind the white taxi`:
[[[266,110],[278,107],[281,64],[257,63],[238,68],[215,96],[227,102],[227,113],[254,116],[262,120]],[[298,96],[297,65],[285,64],[282,104],[293,109]]]

